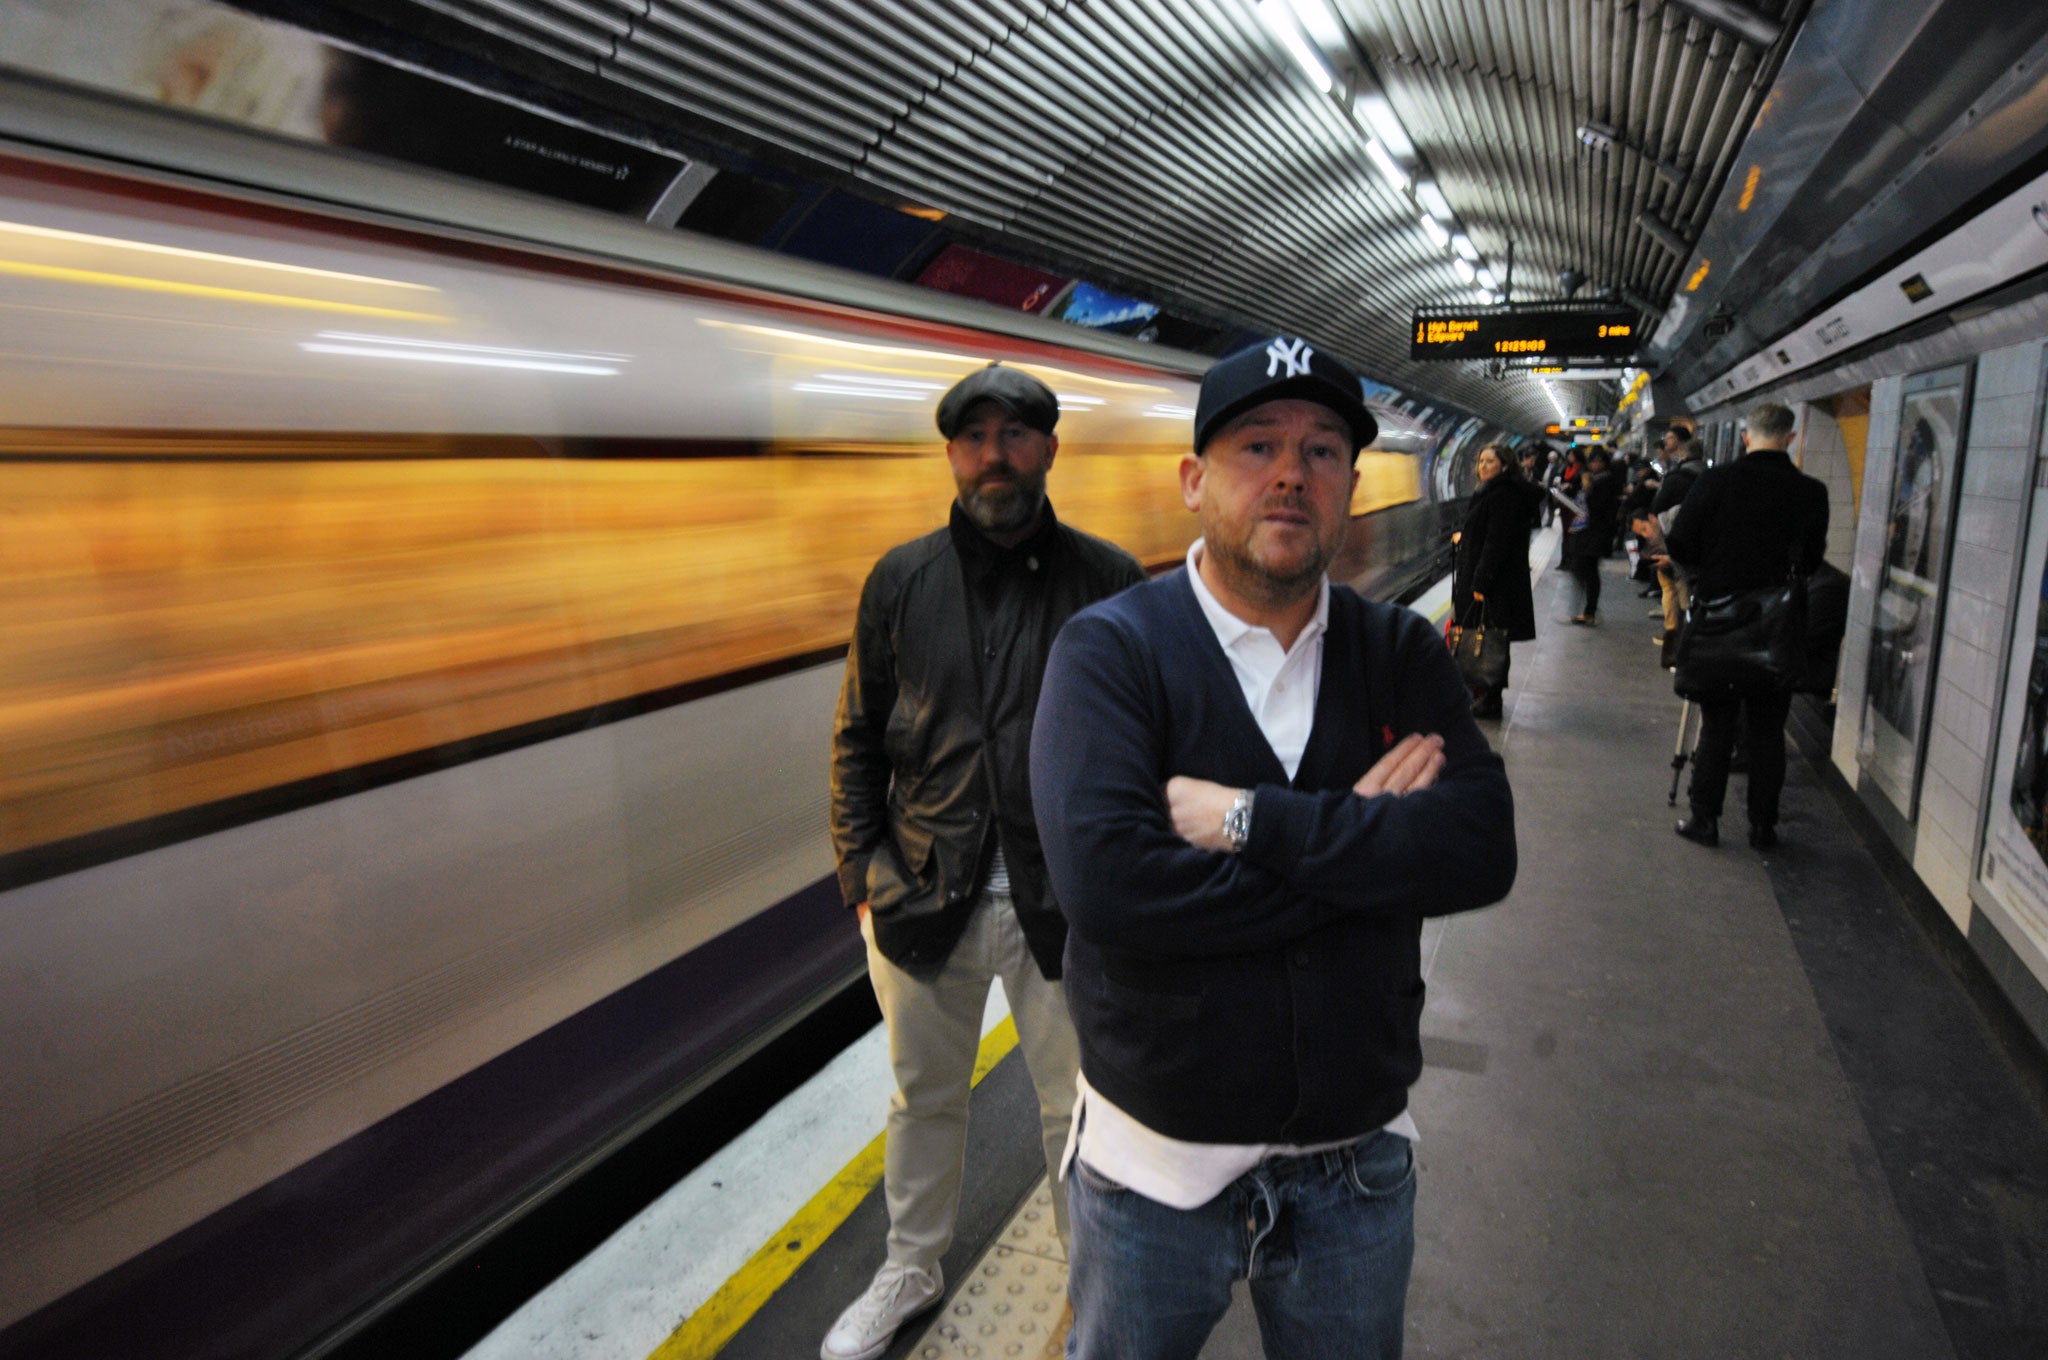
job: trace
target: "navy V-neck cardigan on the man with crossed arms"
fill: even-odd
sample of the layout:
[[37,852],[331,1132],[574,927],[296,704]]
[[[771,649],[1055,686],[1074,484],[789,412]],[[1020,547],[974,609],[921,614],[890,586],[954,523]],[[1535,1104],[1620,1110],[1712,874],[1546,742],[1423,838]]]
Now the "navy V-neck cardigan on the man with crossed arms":
[[[1352,793],[1411,731],[1444,737],[1436,784]],[[1421,920],[1516,877],[1505,766],[1425,619],[1331,588],[1288,780],[1182,567],[1067,623],[1030,754],[1092,1088],[1198,1143],[1335,1141],[1407,1108]],[[1257,791],[1243,854],[1174,832],[1174,774]]]

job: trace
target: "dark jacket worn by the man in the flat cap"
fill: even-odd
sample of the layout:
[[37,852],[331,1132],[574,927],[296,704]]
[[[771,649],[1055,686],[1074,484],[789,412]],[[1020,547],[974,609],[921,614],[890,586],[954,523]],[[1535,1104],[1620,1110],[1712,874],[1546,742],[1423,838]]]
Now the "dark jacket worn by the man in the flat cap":
[[1001,549],[952,508],[946,528],[883,555],[860,590],[831,739],[831,848],[848,905],[913,975],[952,952],[995,860],[1057,979],[1067,922],[1030,811],[1030,723],[1053,637],[1145,580],[1122,549],[1067,528]]

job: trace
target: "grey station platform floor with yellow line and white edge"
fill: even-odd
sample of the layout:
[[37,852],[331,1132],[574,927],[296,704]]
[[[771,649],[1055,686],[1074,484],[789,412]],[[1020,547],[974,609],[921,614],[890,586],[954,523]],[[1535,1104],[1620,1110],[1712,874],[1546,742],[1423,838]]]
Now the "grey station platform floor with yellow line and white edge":
[[[1780,848],[1743,846],[1741,776],[1720,850],[1671,834],[1679,703],[1620,567],[1593,629],[1565,623],[1567,578],[1538,580],[1489,725],[1520,879],[1423,936],[1407,1354],[2048,1356],[2040,1053],[1815,764],[1825,731],[1792,748]],[[987,1030],[946,1301],[893,1358],[1061,1354],[999,989]],[[817,1354],[883,1256],[887,1092],[874,1032],[471,1360]],[[1243,1294],[1202,1354],[1262,1354]]]

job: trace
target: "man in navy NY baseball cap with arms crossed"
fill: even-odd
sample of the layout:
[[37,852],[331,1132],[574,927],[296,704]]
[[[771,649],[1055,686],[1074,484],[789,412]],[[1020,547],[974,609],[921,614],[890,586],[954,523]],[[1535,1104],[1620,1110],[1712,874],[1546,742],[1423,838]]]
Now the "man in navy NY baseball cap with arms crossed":
[[1421,922],[1516,877],[1507,774],[1430,623],[1331,586],[1360,381],[1296,336],[1202,379],[1184,569],[1079,612],[1032,799],[1081,1096],[1069,1356],[1401,1354]]

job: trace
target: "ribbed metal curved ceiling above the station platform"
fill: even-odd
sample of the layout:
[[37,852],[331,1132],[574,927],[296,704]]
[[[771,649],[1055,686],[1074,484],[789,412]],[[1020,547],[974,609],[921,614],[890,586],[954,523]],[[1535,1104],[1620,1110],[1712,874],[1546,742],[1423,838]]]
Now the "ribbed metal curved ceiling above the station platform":
[[[1667,0],[1325,0],[1516,297],[1663,303],[1776,70]],[[1530,379],[1413,365],[1409,309],[1470,299],[1251,0],[414,0],[690,123],[1010,233],[1169,307],[1321,336],[1384,381],[1528,428]],[[1806,0],[1749,0],[1794,27]],[[1620,145],[1581,145],[1587,123]]]

